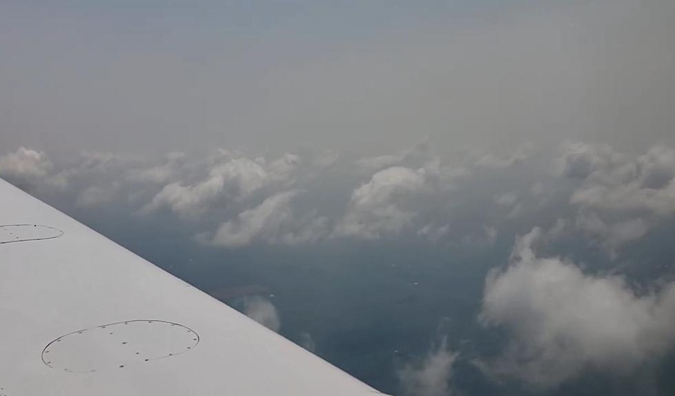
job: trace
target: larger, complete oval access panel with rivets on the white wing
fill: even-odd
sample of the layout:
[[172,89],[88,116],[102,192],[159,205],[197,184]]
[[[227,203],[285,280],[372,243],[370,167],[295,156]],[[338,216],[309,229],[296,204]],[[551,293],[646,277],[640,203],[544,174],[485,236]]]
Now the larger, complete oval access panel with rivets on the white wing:
[[199,343],[192,329],[163,320],[129,320],[74,331],[50,342],[42,361],[52,369],[93,373],[171,358]]

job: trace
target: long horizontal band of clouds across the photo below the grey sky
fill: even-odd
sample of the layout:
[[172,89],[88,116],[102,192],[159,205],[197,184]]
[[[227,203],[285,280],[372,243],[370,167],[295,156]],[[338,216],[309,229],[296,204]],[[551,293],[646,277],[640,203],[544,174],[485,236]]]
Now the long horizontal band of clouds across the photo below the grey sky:
[[[666,146],[627,155],[606,145],[570,143],[548,164],[536,159],[531,144],[508,155],[517,158],[508,166],[486,166],[490,156],[453,160],[424,141],[380,157],[333,152],[327,164],[324,155],[311,152],[256,156],[227,150],[155,159],[85,152],[54,164],[47,153],[21,147],[0,155],[0,175],[24,188],[70,198],[81,208],[125,202],[146,217],[169,213],[194,227],[199,241],[223,248],[404,236],[492,245],[499,228],[556,204],[556,236],[582,232],[616,259],[625,245],[675,214],[675,151]],[[523,170],[537,166],[554,168],[554,175],[537,173],[539,179],[530,180],[526,190],[509,186],[511,179],[522,182]],[[492,177],[503,182],[488,182]],[[324,188],[328,179],[330,196]],[[563,181],[571,190],[555,187]],[[472,196],[478,191],[485,192]],[[478,203],[484,206],[482,219],[470,223],[451,209]]]

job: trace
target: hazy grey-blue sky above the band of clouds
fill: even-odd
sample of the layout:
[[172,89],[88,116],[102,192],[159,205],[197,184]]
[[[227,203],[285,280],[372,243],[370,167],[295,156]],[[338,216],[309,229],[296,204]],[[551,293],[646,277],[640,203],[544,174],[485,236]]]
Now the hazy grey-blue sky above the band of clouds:
[[[0,5],[0,147],[675,141],[672,1]],[[512,147],[511,147],[512,148]]]

